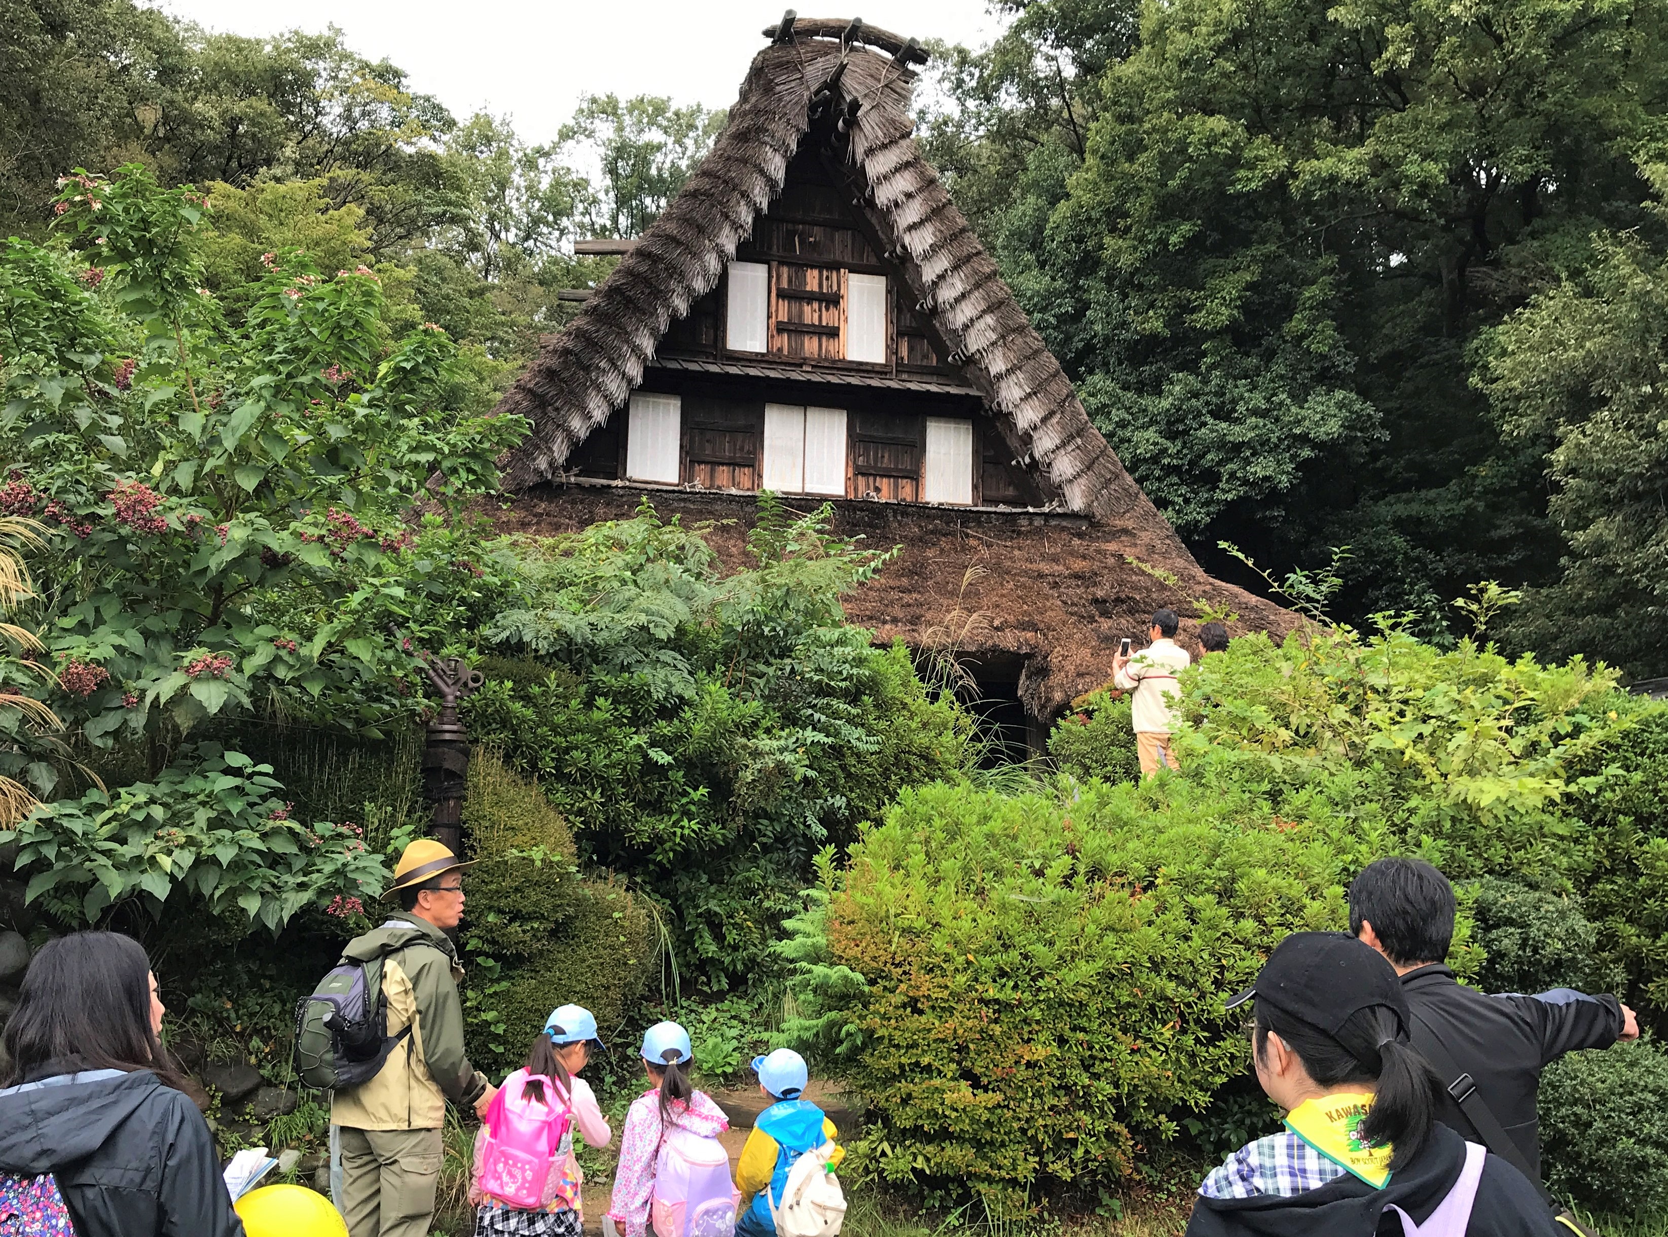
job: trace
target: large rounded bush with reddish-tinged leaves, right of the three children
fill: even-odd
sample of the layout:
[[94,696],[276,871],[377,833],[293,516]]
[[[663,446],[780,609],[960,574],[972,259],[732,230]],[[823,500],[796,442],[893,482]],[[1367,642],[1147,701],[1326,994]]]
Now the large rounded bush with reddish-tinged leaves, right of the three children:
[[1113,1185],[1246,1067],[1223,1000],[1344,923],[1338,870],[1318,830],[1186,786],[907,791],[794,921],[787,1030],[867,1100],[856,1152],[889,1182]]

